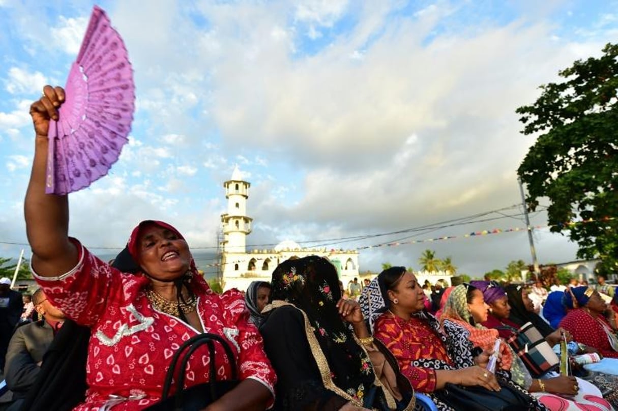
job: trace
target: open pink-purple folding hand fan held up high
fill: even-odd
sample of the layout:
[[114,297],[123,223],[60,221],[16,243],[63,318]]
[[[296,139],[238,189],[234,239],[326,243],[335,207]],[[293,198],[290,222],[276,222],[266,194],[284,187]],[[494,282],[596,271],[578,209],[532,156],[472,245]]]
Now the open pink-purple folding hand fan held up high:
[[49,122],[45,192],[64,195],[108,174],[127,143],[135,85],[127,49],[94,7],[71,66],[58,121]]

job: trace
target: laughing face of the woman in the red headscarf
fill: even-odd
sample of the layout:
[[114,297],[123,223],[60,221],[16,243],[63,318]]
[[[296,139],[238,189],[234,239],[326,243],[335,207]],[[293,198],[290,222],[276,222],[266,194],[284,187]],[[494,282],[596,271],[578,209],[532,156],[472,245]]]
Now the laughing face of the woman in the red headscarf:
[[156,224],[142,229],[137,250],[140,266],[155,279],[176,279],[188,271],[191,263],[187,242]]

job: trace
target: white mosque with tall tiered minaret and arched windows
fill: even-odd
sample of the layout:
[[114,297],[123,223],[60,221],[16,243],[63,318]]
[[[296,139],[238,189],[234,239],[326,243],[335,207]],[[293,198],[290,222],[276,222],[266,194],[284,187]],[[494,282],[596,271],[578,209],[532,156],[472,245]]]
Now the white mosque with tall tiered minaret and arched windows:
[[255,249],[247,252],[247,235],[251,234],[253,222],[247,215],[250,186],[248,181],[243,180],[238,167],[234,168],[231,179],[223,183],[227,198],[227,213],[221,214],[221,272],[224,290],[246,290],[252,281],[270,281],[273,270],[279,263],[289,258],[308,255],[328,258],[337,267],[344,287],[354,277],[358,277],[356,250],[302,248],[296,242],[286,240],[272,250]]

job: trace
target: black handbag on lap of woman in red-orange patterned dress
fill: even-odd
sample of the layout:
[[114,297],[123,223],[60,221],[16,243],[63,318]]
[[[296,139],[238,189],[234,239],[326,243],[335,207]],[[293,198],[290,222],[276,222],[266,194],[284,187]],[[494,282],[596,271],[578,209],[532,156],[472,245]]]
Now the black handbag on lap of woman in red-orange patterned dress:
[[481,386],[464,387],[446,383],[434,395],[455,410],[462,411],[525,411],[533,410],[532,398],[522,391],[501,384],[500,391],[489,391]]

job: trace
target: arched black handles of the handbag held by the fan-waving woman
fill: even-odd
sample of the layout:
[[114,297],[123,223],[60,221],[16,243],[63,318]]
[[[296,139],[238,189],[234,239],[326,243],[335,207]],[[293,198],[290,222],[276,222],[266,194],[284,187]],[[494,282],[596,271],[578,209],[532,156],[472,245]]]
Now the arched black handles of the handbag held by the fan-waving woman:
[[[230,348],[227,341],[225,341],[221,336],[218,336],[217,334],[211,334],[211,333],[198,334],[197,336],[193,336],[187,341],[183,342],[182,345],[180,345],[179,349],[176,350],[176,352],[174,353],[174,356],[172,357],[172,361],[169,365],[169,370],[167,370],[167,374],[165,376],[165,382],[163,384],[163,394],[161,394],[161,400],[165,400],[167,399],[167,396],[169,396],[169,390],[172,385],[172,379],[174,379],[174,370],[176,370],[176,366],[178,364],[178,360],[180,359],[180,355],[182,355],[184,351],[187,349],[188,349],[188,352],[184,355],[184,357],[182,357],[182,361],[180,362],[179,375],[177,378],[177,386],[179,387],[179,391],[176,395],[176,409],[182,409],[182,389],[184,388],[185,369],[187,368],[187,363],[190,360],[193,352],[195,352],[195,350],[200,348],[201,345],[204,345],[204,344],[208,345],[208,354],[210,355],[211,383],[214,383],[216,381],[217,374],[216,374],[216,366],[214,363],[214,356],[215,356],[214,342],[219,342],[219,344],[221,344],[221,346],[223,347],[226,353],[227,359],[229,360],[230,366],[232,368],[232,379],[238,379],[238,370],[236,368],[236,360],[234,358],[234,352],[232,352],[232,349]],[[213,377],[214,377],[214,380],[212,379]],[[214,400],[216,399],[216,391],[214,389],[214,384],[210,384],[210,389],[211,389],[211,397]]]

